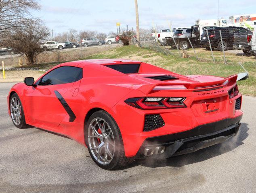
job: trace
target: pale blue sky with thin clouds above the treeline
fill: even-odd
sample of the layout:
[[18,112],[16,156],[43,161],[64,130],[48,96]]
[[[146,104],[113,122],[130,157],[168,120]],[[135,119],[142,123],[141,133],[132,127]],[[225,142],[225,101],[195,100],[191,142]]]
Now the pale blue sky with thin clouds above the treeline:
[[[136,27],[134,0],[40,0],[42,8],[33,11],[54,34],[68,29],[109,33],[126,25]],[[191,27],[197,19],[217,19],[218,0],[138,0],[139,27],[152,25],[169,29]],[[219,0],[219,18],[256,13],[256,0]]]

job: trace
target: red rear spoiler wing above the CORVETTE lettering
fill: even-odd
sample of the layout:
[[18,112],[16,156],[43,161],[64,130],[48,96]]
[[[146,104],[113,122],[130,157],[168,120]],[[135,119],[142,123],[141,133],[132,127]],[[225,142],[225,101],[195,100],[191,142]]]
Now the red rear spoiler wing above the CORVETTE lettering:
[[[229,81],[229,85],[235,84],[237,81],[237,75],[232,75],[222,80],[213,81],[213,82],[194,82],[194,83],[184,83],[184,82],[161,82],[155,84],[145,84],[140,86],[137,90],[140,90],[144,94],[149,94],[156,86],[184,86],[186,89],[200,91],[202,89],[218,89],[222,88],[223,83]],[[226,84],[225,84],[226,85]],[[177,88],[178,89],[178,88]],[[180,90],[180,89],[178,89]]]

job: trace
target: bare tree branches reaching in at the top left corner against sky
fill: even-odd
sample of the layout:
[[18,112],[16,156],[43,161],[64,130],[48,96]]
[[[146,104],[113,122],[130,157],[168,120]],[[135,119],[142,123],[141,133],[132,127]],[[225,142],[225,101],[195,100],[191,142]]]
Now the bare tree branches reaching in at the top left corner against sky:
[[30,10],[39,9],[36,0],[0,0],[0,35],[19,27],[23,20],[31,18]]

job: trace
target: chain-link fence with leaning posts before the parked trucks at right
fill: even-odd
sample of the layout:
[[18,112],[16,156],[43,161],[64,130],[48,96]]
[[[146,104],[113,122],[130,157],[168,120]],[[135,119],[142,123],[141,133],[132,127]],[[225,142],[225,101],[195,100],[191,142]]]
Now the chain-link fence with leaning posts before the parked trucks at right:
[[216,64],[256,64],[251,49],[252,32],[243,27],[198,27],[177,29],[169,37],[154,33],[141,40],[142,47],[166,55],[194,57]]

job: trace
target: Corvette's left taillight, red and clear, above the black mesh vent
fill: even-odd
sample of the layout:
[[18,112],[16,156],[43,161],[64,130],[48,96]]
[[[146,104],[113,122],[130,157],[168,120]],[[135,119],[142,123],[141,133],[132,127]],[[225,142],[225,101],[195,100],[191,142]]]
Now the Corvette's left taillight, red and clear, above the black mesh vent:
[[185,97],[138,97],[124,102],[138,109],[173,109],[187,107],[183,102]]

